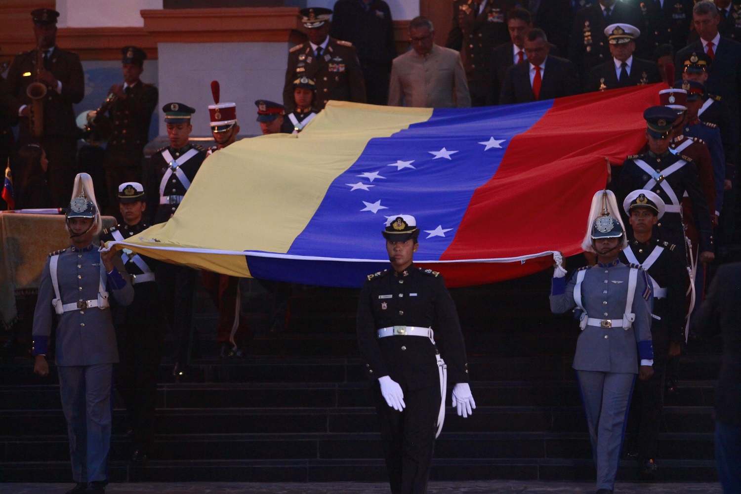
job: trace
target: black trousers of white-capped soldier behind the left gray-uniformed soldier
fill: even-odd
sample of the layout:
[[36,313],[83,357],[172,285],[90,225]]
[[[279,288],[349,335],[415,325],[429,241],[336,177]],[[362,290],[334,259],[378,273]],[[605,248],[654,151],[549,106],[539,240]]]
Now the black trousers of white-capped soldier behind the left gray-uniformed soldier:
[[116,324],[119,364],[116,390],[124,399],[133,433],[133,449],[150,451],[157,404],[157,367],[162,359],[165,315],[156,284],[134,285],[134,300]]

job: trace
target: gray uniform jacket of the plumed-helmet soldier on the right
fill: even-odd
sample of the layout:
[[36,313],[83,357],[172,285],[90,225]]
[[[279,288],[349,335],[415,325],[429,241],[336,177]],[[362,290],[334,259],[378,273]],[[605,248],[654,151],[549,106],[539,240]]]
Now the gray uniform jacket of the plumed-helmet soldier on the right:
[[[623,327],[601,327],[588,324],[576,341],[574,369],[605,373],[638,373],[638,360],[653,360],[651,346],[651,307],[653,296],[646,272],[637,264],[622,264],[616,260],[598,263],[586,270],[582,281],[582,305],[588,317],[622,319],[628,296],[628,275],[631,267],[639,270],[633,298],[635,320],[627,330]],[[554,278],[551,289],[551,311],[565,313],[576,306],[574,287],[576,274],[568,283]]]

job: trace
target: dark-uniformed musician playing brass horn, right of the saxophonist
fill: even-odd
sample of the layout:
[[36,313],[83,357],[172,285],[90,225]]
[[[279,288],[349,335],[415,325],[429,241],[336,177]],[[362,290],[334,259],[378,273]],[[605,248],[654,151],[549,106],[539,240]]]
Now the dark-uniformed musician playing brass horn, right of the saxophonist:
[[142,179],[144,146],[149,141],[152,113],[159,98],[156,87],[139,79],[147,53],[131,46],[123,47],[121,53],[124,84],[113,84],[108,90],[116,95],[108,110],[111,134],[103,158],[110,198],[117,196],[119,184]]

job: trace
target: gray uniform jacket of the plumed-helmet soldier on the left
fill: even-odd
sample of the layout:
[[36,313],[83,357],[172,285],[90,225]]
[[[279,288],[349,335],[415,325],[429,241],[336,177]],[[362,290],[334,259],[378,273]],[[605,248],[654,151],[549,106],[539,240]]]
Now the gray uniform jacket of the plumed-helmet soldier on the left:
[[[59,254],[57,280],[62,304],[96,300],[100,285],[100,253],[95,245],[84,249],[69,247],[50,254],[41,273],[39,299],[33,314],[33,355],[46,355],[47,341],[51,334],[56,298],[52,284],[49,262]],[[121,268],[123,269],[123,268]],[[125,275],[125,271],[123,271]],[[106,276],[106,290],[121,305],[133,301],[134,290],[114,267]],[[56,326],[56,364],[59,366],[115,364],[119,361],[116,349],[116,333],[110,308],[90,307],[70,310],[59,316]]]

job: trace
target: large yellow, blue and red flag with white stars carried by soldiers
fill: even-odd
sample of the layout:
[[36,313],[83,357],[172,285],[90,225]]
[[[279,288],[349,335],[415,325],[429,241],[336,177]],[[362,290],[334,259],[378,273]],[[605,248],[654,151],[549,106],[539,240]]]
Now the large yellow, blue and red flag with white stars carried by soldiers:
[[298,136],[207,158],[175,216],[129,238],[154,258],[296,283],[359,287],[388,267],[387,216],[416,217],[416,264],[451,287],[542,270],[579,253],[605,158],[645,143],[659,87],[502,107],[330,101]]

